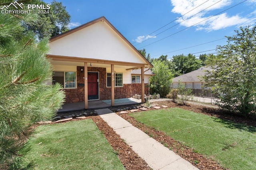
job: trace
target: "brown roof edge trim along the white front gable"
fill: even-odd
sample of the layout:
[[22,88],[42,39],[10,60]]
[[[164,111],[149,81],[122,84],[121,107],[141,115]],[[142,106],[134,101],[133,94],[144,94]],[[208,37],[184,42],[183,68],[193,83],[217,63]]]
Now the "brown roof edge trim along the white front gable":
[[93,24],[96,24],[98,22],[105,22],[112,30],[114,30],[114,32],[116,32],[116,34],[118,34],[118,36],[120,36],[120,38],[122,38],[124,40],[124,42],[126,42],[147,63],[148,67],[153,67],[153,65],[104,16],[97,18],[95,20],[92,20],[92,21],[90,21],[86,24],[83,24],[81,26],[78,26],[76,28],[73,28],[72,30],[69,30],[67,32],[64,32],[62,34],[54,36],[50,39],[50,43],[54,42],[56,40],[59,40],[65,36],[68,36],[74,32],[82,30],[83,28],[86,28]]

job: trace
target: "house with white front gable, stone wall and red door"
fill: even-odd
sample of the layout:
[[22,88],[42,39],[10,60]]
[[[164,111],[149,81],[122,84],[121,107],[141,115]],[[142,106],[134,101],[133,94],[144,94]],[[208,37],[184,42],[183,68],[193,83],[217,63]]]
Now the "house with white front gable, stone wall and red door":
[[153,65],[105,17],[51,38],[48,58],[52,83],[63,85],[66,103],[84,102],[87,109],[88,100],[111,99],[114,105],[114,99],[131,97],[134,69],[142,70],[135,82],[144,102],[143,70]]

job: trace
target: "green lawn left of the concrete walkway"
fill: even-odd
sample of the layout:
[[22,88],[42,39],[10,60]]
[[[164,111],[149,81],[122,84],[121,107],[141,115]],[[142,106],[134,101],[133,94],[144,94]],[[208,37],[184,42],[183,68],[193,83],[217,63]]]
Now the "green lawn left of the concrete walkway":
[[124,170],[102,132],[91,119],[36,128],[26,158],[35,170]]

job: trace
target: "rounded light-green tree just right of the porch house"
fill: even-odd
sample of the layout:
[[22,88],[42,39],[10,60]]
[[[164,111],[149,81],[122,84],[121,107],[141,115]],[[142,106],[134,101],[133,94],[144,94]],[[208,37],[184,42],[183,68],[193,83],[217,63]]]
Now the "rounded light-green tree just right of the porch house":
[[166,97],[170,92],[173,74],[164,62],[155,60],[152,63],[154,67],[152,71],[156,74],[150,77],[151,94],[159,93],[161,97]]

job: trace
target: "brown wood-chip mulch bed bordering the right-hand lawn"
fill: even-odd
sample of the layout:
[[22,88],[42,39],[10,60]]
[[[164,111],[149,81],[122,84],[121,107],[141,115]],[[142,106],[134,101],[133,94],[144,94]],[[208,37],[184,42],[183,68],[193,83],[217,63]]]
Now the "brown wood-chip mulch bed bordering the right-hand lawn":
[[[256,127],[256,121],[251,119],[246,119],[239,115],[230,115],[230,113],[225,113],[216,107],[211,107],[210,105],[200,105],[198,103],[190,103],[188,105],[180,105],[178,103],[173,103],[172,101],[160,101],[152,103],[152,105],[166,105],[170,107],[180,107],[182,109],[190,110],[196,113],[201,113],[209,116],[218,117],[220,119],[233,121],[234,123],[242,123],[245,125],[251,125]],[[155,110],[153,108],[148,110]],[[118,113],[117,113],[118,114]],[[150,127],[146,127],[146,125],[137,122],[134,118],[130,117],[129,114],[121,114],[119,115],[122,118],[129,121],[132,125],[139,128],[143,132],[146,132],[149,136],[152,136],[155,140],[162,143],[164,146],[170,148],[173,152],[180,155],[185,160],[188,160],[194,166],[199,168],[200,170],[222,170],[225,169],[218,162],[215,162],[211,158],[207,158],[202,154],[194,152],[193,148],[189,148],[184,146],[177,140],[174,140],[170,136],[164,134],[161,131],[155,130]],[[214,157],[212,157],[214,158]]]

